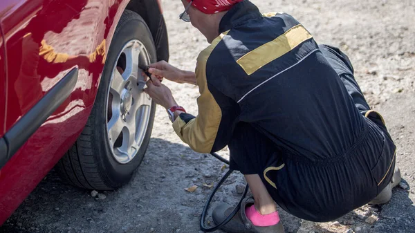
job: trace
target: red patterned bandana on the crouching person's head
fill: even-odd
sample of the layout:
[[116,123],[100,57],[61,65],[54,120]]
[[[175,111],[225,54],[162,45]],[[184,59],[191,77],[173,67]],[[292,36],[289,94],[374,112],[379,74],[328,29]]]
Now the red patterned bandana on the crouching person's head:
[[[187,0],[190,2],[191,0]],[[214,14],[217,12],[229,10],[234,4],[243,0],[193,0],[192,6],[205,14]]]

